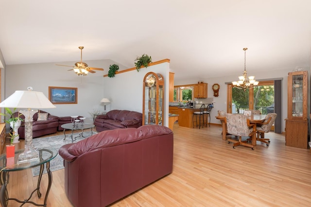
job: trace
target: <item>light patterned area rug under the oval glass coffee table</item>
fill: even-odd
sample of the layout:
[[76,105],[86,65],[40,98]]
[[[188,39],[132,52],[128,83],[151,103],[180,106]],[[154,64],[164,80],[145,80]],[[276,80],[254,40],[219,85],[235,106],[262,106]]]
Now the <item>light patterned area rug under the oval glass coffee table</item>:
[[[74,133],[73,137],[79,136],[80,133]],[[97,132],[93,131],[93,135],[97,134]],[[83,132],[84,137],[89,137],[91,136],[91,131],[85,131]],[[77,137],[74,143],[79,142],[81,140],[84,140],[86,138],[84,137]],[[73,139],[74,140],[74,139]],[[41,149],[41,148],[55,148],[58,152],[58,149],[63,146],[64,144],[72,143],[70,134],[66,134],[66,139],[64,140],[64,134],[58,135],[58,136],[51,136],[51,137],[43,137],[43,138],[35,138],[33,139],[33,143],[36,148]],[[57,154],[57,156],[50,161],[50,170],[56,171],[56,170],[61,170],[64,168],[63,164],[63,158]],[[40,172],[40,166],[32,168],[33,176],[39,175]],[[44,171],[43,174],[47,173],[46,167],[44,166]]]

